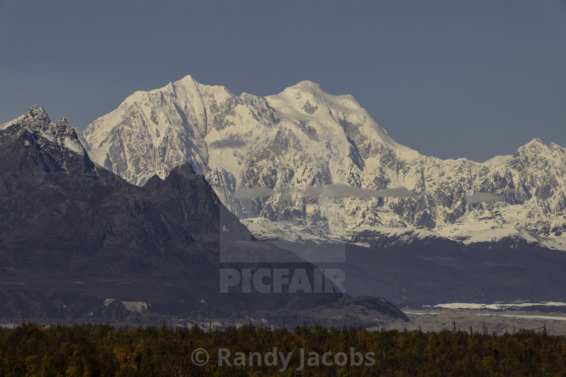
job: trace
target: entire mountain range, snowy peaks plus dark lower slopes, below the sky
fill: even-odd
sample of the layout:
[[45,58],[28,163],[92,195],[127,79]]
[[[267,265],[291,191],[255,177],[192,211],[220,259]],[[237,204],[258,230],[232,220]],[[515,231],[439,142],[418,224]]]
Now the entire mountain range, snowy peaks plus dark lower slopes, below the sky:
[[[83,132],[34,106],[0,124],[0,161],[0,320],[375,326],[406,319],[381,296],[566,302],[564,148],[427,157],[310,81],[257,97],[187,76]],[[347,294],[218,293],[222,268],[274,266],[336,268]]]

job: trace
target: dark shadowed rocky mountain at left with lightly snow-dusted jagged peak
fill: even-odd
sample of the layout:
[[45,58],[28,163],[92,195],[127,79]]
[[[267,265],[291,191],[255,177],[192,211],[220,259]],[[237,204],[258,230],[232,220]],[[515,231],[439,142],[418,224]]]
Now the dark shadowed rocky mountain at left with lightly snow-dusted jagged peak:
[[276,267],[291,274],[314,274],[310,263],[255,240],[188,163],[138,187],[94,164],[66,120],[52,123],[42,108],[0,124],[0,319],[150,323],[262,310],[299,320],[302,310],[340,300],[336,292],[242,293],[242,285],[220,293],[222,268],[272,267],[221,263],[221,249],[253,249],[285,261]]

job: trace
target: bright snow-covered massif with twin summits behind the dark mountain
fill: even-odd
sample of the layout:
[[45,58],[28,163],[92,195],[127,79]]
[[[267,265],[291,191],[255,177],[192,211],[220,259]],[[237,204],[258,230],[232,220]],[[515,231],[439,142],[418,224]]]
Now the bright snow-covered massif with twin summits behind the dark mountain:
[[186,76],[135,92],[84,141],[137,185],[190,162],[259,238],[368,244],[402,233],[566,250],[564,148],[534,139],[484,163],[427,157],[353,97],[310,81],[257,97]]

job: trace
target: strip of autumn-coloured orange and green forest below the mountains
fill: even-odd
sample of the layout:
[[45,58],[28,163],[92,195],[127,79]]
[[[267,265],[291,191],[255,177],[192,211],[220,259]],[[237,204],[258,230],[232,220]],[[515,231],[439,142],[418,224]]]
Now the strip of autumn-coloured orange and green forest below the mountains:
[[0,376],[423,375],[566,376],[566,337],[546,330],[495,335],[485,326],[463,331],[456,323],[440,332],[307,324],[207,331],[165,323],[0,328]]

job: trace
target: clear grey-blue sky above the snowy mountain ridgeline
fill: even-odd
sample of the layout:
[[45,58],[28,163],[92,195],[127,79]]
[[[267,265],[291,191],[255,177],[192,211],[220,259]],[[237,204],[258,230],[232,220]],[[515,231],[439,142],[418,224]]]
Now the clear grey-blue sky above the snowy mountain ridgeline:
[[84,129],[191,75],[267,96],[352,94],[397,142],[485,161],[566,147],[566,1],[2,1],[0,122]]

